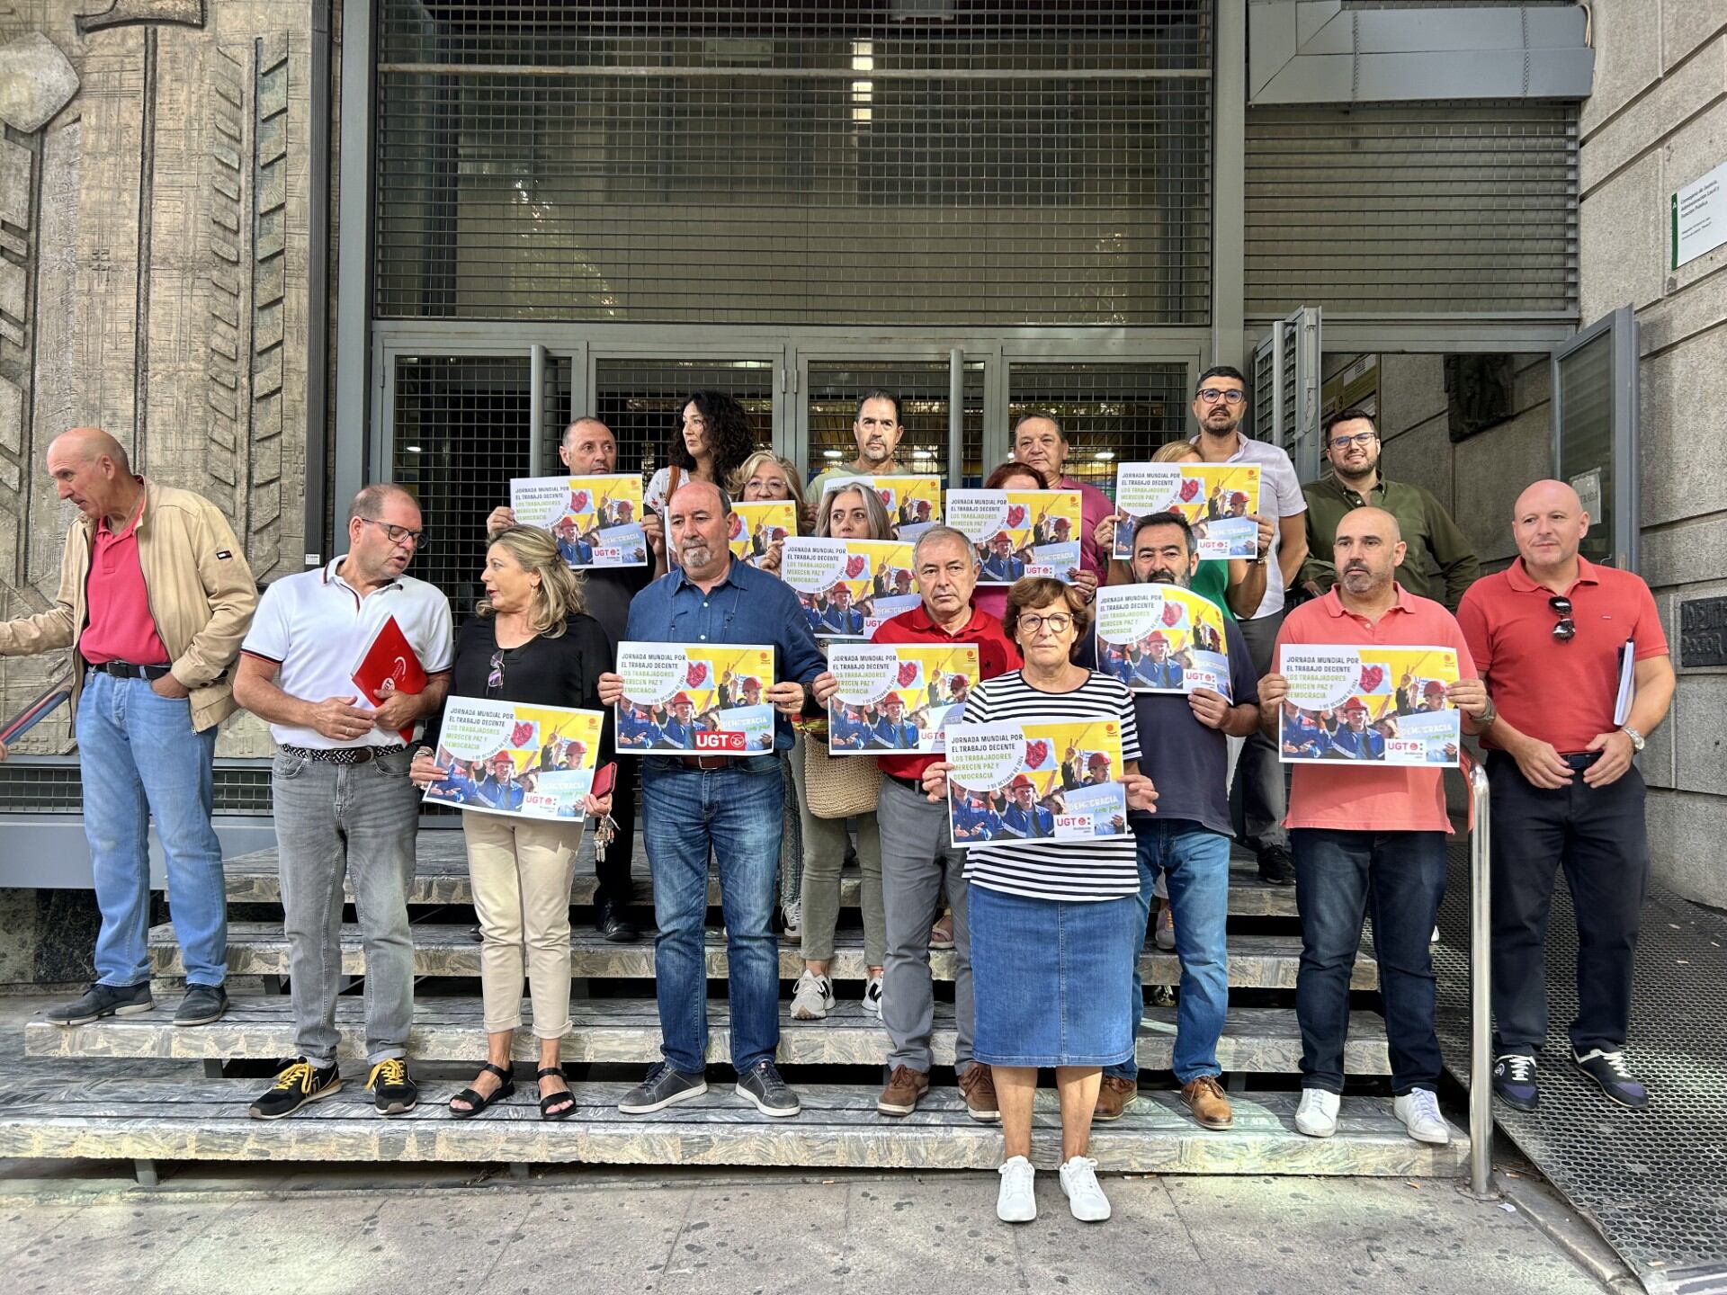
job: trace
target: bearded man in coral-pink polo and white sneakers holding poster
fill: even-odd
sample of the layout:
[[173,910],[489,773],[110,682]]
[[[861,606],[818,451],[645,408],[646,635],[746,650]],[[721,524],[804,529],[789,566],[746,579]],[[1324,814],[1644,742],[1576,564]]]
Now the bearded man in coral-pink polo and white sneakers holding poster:
[[[1404,553],[1390,513],[1345,513],[1337,523],[1337,585],[1285,618],[1275,660],[1281,661],[1288,644],[1451,648],[1459,679],[1447,691],[1473,732],[1487,711],[1487,689],[1451,613],[1395,582]],[[1268,734],[1276,734],[1285,696],[1288,680],[1281,673],[1261,680],[1259,718]],[[1451,1126],[1435,1096],[1440,1057],[1428,955],[1428,934],[1445,893],[1451,832],[1442,772],[1356,761],[1297,765],[1283,822],[1295,855],[1302,938],[1295,981],[1302,1095],[1295,1128],[1313,1138],[1337,1131],[1349,972],[1371,901],[1394,1107],[1416,1141],[1449,1141]]]

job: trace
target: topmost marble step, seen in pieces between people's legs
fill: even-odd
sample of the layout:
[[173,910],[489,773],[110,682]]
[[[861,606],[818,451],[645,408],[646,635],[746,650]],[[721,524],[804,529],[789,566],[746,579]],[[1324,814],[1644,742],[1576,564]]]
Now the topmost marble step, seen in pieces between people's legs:
[[[642,853],[639,837],[632,856],[632,877],[636,882],[636,903],[653,905],[653,881],[648,875],[648,856]],[[276,851],[259,850],[250,855],[237,855],[223,860],[228,877],[230,903],[282,903],[282,879],[276,874]],[[862,875],[857,867],[848,867],[839,874],[839,906],[858,906],[858,886]],[[594,879],[592,855],[584,848],[577,860],[575,881],[570,886],[570,903],[592,905],[599,882]],[[349,901],[354,898],[352,888],[347,891]],[[473,903],[473,888],[468,884],[468,855],[463,850],[461,832],[421,831],[416,843],[414,875],[408,886],[408,903]],[[718,879],[708,881],[708,903],[718,906]],[[1231,917],[1295,917],[1295,888],[1266,886],[1259,881],[1250,855],[1238,855],[1230,862],[1230,915]]]

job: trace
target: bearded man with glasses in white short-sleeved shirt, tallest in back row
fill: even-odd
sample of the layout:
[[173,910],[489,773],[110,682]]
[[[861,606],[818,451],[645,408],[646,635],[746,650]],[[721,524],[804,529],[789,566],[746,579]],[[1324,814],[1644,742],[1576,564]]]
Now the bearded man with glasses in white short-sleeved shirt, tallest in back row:
[[[1307,501],[1290,456],[1278,445],[1242,435],[1245,413],[1247,380],[1240,370],[1219,364],[1200,375],[1193,395],[1193,418],[1199,421],[1193,447],[1205,463],[1259,464],[1259,508],[1278,518],[1271,549],[1259,554],[1259,561],[1266,565],[1266,594],[1252,616],[1238,618],[1254,670],[1264,675],[1271,670],[1273,648],[1283,627],[1285,591],[1295,585],[1300,565],[1307,559],[1307,525],[1302,516]],[[1259,858],[1259,879],[1269,886],[1295,884],[1283,806],[1283,767],[1278,763],[1276,742],[1256,725],[1235,767],[1230,808],[1237,839],[1252,846]]]

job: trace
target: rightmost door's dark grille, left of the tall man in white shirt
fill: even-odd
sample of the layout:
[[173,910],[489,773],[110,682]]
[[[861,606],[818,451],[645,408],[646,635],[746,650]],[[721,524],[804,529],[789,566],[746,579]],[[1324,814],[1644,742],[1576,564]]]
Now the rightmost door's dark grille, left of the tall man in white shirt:
[[1009,426],[1043,411],[1067,433],[1067,475],[1116,497],[1116,464],[1186,428],[1186,364],[1014,364]]

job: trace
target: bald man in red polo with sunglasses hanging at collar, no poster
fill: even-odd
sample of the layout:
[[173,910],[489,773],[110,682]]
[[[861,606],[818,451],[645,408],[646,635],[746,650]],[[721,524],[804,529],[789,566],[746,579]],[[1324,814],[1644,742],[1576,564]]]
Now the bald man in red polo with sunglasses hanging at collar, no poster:
[[[1649,587],[1578,556],[1589,515],[1570,485],[1528,487],[1511,534],[1518,559],[1470,585],[1458,608],[1496,708],[1482,737],[1494,827],[1494,1093],[1518,1110],[1540,1095],[1547,908],[1563,867],[1577,908],[1572,1060],[1608,1098],[1641,1109],[1649,1093],[1623,1053],[1649,879],[1632,758],[1667,715],[1673,665]],[[1635,696],[1618,720],[1627,646]]]

